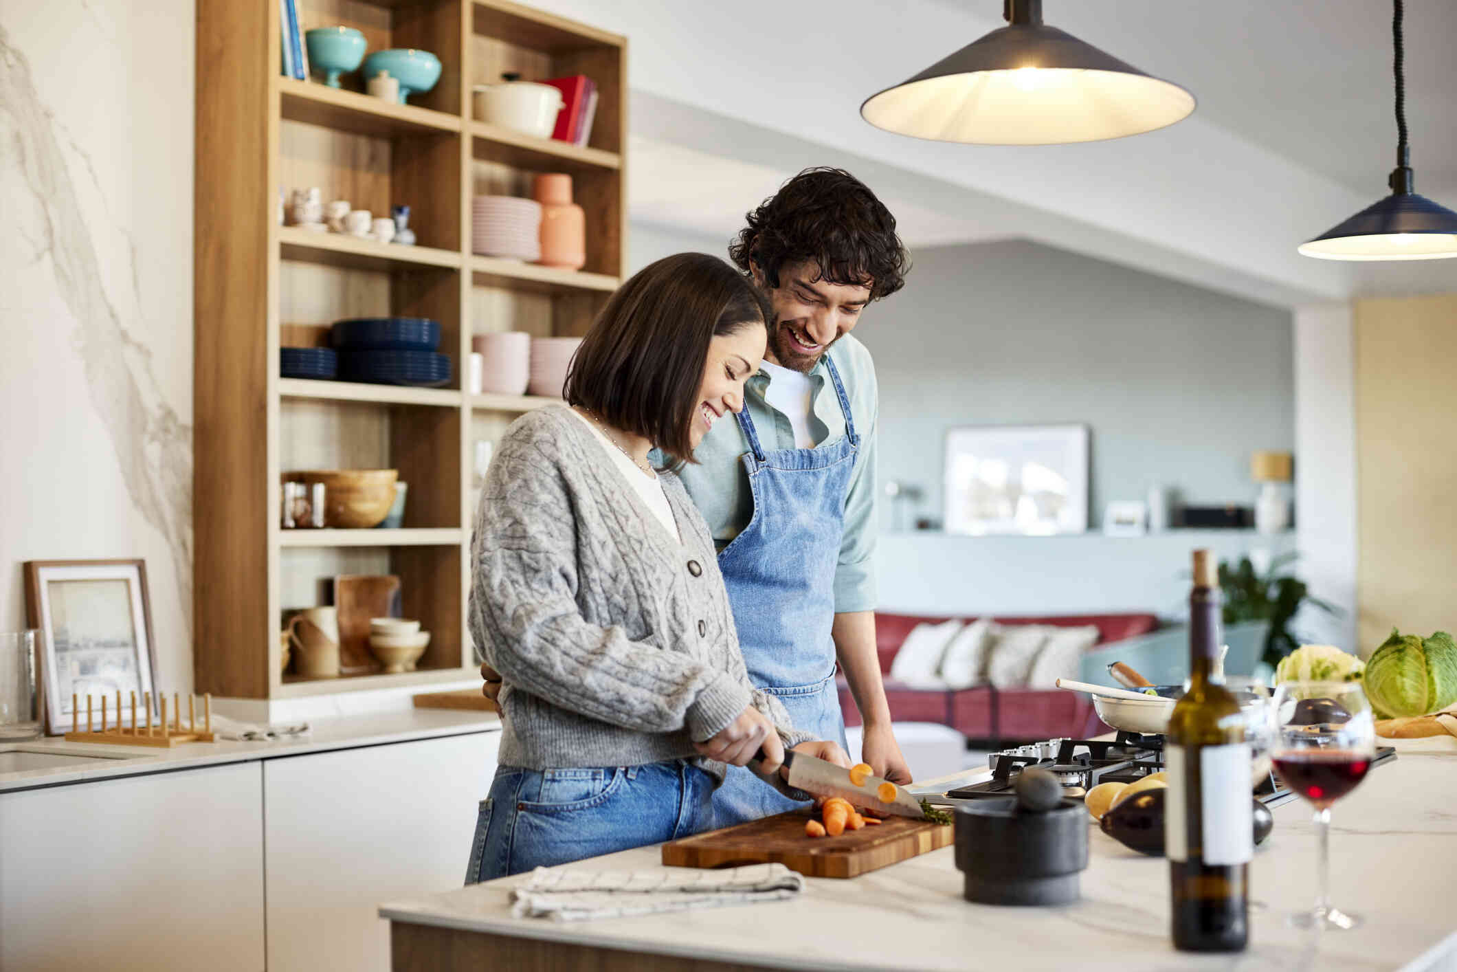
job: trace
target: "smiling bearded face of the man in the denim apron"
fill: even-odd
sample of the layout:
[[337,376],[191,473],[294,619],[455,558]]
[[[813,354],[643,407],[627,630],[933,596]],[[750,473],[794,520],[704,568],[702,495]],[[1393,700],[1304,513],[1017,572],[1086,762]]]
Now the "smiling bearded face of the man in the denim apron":
[[868,284],[819,280],[814,262],[785,264],[779,286],[768,293],[774,321],[763,357],[796,372],[813,369],[829,345],[855,329],[860,312],[870,303]]

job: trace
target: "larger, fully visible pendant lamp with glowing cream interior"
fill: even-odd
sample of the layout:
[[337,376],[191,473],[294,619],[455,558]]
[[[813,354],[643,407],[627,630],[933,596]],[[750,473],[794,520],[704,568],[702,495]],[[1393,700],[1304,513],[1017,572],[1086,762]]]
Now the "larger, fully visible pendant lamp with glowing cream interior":
[[1046,146],[1136,136],[1186,118],[1193,95],[1005,0],[1008,25],[865,99],[861,117],[914,138]]

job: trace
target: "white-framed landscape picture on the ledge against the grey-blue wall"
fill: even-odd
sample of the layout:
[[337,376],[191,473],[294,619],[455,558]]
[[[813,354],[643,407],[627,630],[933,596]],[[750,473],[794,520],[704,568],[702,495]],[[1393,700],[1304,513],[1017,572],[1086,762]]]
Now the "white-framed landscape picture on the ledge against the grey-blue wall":
[[1087,532],[1088,437],[1084,424],[949,428],[946,532]]

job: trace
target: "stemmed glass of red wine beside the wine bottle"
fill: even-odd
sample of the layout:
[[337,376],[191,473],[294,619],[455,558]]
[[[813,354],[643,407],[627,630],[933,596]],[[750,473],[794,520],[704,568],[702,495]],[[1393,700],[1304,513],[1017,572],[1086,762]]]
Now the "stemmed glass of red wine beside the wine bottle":
[[1294,681],[1271,699],[1275,772],[1316,807],[1320,876],[1316,906],[1297,911],[1298,928],[1349,930],[1361,917],[1330,904],[1330,804],[1356,788],[1375,756],[1375,720],[1359,682]]

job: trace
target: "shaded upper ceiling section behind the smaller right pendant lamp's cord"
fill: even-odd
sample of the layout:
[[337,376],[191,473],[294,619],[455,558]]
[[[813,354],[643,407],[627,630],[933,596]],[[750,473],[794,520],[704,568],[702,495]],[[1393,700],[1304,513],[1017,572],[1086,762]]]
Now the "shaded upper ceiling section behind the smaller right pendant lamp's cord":
[[[1457,207],[1457,3],[1405,6],[1416,191]],[[1396,165],[1390,0],[1046,0],[1043,20],[1183,85],[1198,98],[1201,118],[1372,203],[1386,194]],[[956,44],[928,41],[927,64]]]

